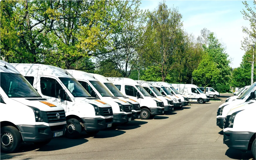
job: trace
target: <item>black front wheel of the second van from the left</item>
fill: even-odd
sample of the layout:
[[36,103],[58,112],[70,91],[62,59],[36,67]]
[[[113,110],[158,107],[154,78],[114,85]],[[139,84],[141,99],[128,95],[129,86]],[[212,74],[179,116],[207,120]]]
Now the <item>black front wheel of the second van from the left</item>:
[[67,129],[65,136],[67,138],[76,139],[81,135],[82,126],[77,119],[68,119],[67,120]]

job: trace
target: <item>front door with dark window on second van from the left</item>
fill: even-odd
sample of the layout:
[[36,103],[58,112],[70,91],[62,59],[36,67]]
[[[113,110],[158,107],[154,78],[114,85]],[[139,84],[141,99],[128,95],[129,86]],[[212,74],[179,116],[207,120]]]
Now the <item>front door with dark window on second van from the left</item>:
[[43,98],[62,106],[66,112],[67,101],[59,95],[62,91],[65,92],[64,94],[67,94],[65,87],[55,77],[45,75],[38,75],[37,83],[40,84],[36,85],[39,94]]

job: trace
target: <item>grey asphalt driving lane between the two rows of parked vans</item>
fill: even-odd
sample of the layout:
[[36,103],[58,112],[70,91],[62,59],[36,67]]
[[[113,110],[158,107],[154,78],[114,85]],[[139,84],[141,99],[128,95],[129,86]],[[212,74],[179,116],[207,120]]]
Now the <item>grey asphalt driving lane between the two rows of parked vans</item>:
[[55,138],[38,148],[23,145],[17,153],[1,153],[1,159],[252,159],[251,152],[229,149],[216,126],[222,102],[191,103],[182,110],[149,120],[135,120],[95,137]]

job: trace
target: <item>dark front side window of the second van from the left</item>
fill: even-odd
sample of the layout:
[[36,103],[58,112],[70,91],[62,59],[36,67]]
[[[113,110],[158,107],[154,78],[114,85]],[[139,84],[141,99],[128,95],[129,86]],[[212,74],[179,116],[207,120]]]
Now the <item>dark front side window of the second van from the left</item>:
[[55,98],[58,98],[59,90],[63,89],[57,80],[47,77],[40,78],[40,88],[43,95]]

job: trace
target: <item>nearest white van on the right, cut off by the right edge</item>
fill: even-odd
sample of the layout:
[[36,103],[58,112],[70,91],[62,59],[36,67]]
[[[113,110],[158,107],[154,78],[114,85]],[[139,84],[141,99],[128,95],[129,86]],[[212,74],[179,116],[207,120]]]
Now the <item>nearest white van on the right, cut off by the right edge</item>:
[[252,150],[255,157],[256,150],[256,101],[251,101],[243,107],[230,110],[225,117],[223,127],[223,143],[230,148],[247,152]]

